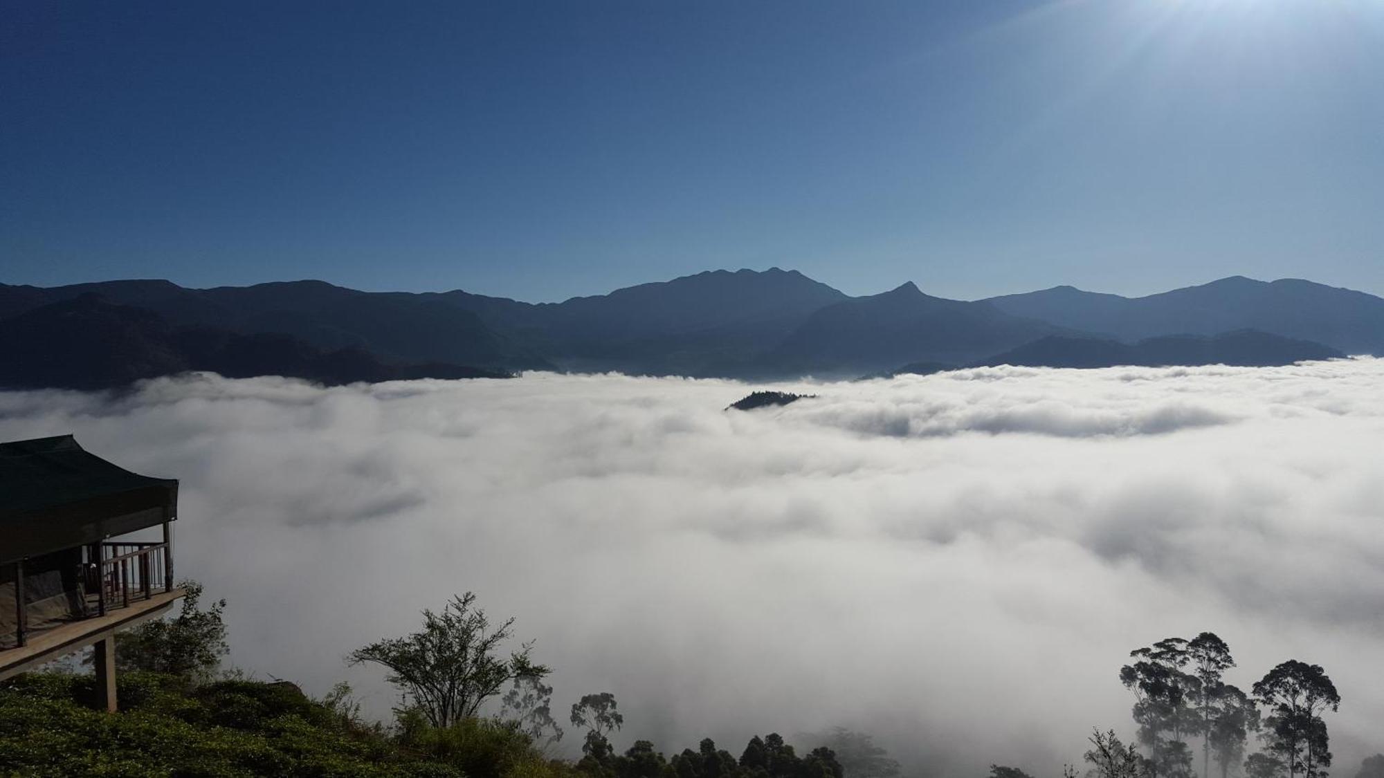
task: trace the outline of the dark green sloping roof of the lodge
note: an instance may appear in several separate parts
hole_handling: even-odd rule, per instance
[[[177,518],[177,480],[119,468],[71,435],[0,443],[0,563]]]

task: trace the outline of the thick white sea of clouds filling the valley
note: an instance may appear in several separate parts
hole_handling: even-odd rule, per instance
[[[177,568],[228,599],[230,662],[378,716],[394,694],[342,656],[471,590],[559,717],[614,692],[620,748],[840,724],[919,775],[1050,777],[1132,734],[1131,649],[1211,630],[1243,688],[1326,667],[1336,774],[1384,750],[1384,360],[774,388],[817,397],[185,377],[0,393],[0,439],[181,479]]]

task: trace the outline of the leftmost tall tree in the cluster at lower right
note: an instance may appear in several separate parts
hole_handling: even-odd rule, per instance
[[[1120,681],[1135,694],[1133,720],[1149,748],[1153,778],[1185,778],[1192,772],[1192,752],[1182,735],[1193,718],[1189,702],[1200,682],[1183,671],[1190,660],[1187,641],[1165,638],[1129,656],[1135,662],[1120,669]]]

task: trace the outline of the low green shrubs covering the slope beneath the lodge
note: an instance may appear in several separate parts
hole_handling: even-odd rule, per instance
[[[118,676],[122,712],[87,705],[91,676],[30,673],[0,684],[0,775],[185,778],[461,778],[286,682],[191,687]]]

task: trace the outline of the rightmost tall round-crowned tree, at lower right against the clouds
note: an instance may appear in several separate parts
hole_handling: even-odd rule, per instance
[[[1269,712],[1269,749],[1283,759],[1289,778],[1326,775],[1331,752],[1322,713],[1337,710],[1341,695],[1322,666],[1290,659],[1254,684],[1254,696]]]

